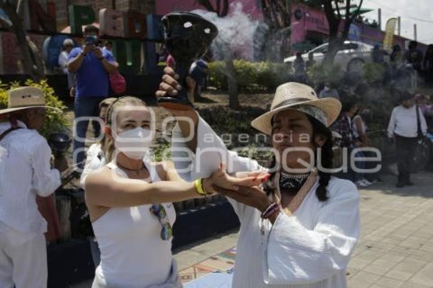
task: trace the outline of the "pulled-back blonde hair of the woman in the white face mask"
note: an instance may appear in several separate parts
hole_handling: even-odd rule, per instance
[[[107,109],[106,115],[105,115],[105,125],[112,128],[113,124],[112,121],[116,121],[117,119],[113,119],[113,111],[119,107],[123,107],[123,106],[146,106],[146,103],[137,98],[137,97],[132,97],[132,96],[125,96],[125,97],[120,97],[117,98],[116,100],[114,100],[110,106]],[[102,146],[101,146],[102,149]],[[104,141],[104,146],[103,146],[103,152],[105,154],[105,159],[106,162],[111,162],[112,158],[113,158],[113,152],[114,152],[114,141],[113,139],[110,139],[109,137],[106,137],[105,141]]]

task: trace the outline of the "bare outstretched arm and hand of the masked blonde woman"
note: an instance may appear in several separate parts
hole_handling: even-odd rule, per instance
[[[163,181],[147,183],[143,180],[120,177],[107,167],[90,174],[85,181],[86,201],[100,207],[132,207],[145,204],[183,201],[202,197],[195,182],[186,182],[176,175],[172,165],[156,164],[158,175]],[[239,186],[255,186],[258,177],[236,179],[220,168],[210,177],[203,179],[203,186],[221,186],[236,189]],[[207,190],[207,192],[210,192]]]

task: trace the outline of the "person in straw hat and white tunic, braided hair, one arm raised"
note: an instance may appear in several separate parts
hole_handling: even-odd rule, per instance
[[[171,68],[165,71],[156,94],[175,96],[176,76]],[[241,223],[233,287],[346,287],[345,270],[360,235],[359,194],[352,182],[323,169],[332,167],[328,127],[340,109],[339,100],[318,99],[307,85],[291,82],[278,87],[270,111],[252,122],[272,137],[276,156],[264,189],[217,189],[229,197]],[[265,169],[227,151],[196,111],[172,112],[178,118],[172,157],[184,179],[209,175],[221,161],[229,173]],[[178,139],[188,136],[186,143]],[[196,153],[193,163],[186,146]]]

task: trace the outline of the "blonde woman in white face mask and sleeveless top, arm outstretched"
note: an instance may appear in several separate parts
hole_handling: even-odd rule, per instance
[[[206,179],[183,181],[169,162],[145,159],[154,121],[143,101],[124,97],[107,110],[108,164],[85,180],[86,203],[101,250],[93,288],[181,287],[171,253],[176,213],[172,201],[203,197],[203,187],[258,185],[265,173],[243,179],[225,168]]]

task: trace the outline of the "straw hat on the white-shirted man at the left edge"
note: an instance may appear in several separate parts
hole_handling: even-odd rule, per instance
[[[45,105],[44,92],[36,87],[20,87],[8,91],[8,108],[1,109],[0,114],[6,114],[28,108],[57,108]]]

